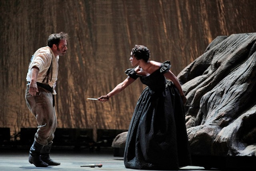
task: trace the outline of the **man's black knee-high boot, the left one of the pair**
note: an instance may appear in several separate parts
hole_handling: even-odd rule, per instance
[[[41,145],[34,141],[33,145],[29,151],[28,161],[30,164],[34,164],[36,167],[47,167],[49,166],[46,162],[44,162],[40,157],[40,152],[44,145]]]

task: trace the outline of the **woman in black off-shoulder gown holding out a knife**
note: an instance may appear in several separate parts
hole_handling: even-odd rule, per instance
[[[124,165],[126,168],[173,170],[190,165],[190,154],[183,103],[187,101],[181,85],[170,71],[169,61],[148,61],[146,46],[131,51],[128,77],[107,95],[106,102],[140,78],[147,87],[142,91],[127,134]],[[170,79],[170,80],[166,80]]]

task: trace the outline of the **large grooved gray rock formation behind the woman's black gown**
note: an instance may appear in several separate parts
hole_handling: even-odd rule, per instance
[[[178,75],[192,154],[256,156],[255,40],[217,37]]]

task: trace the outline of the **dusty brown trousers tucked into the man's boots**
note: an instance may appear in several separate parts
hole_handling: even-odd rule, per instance
[[[35,96],[30,95],[28,91],[29,84],[27,84],[25,98],[28,109],[36,117],[38,124],[35,141],[41,145],[47,145],[52,142],[57,127],[53,95],[51,92],[39,86],[39,92]]]

